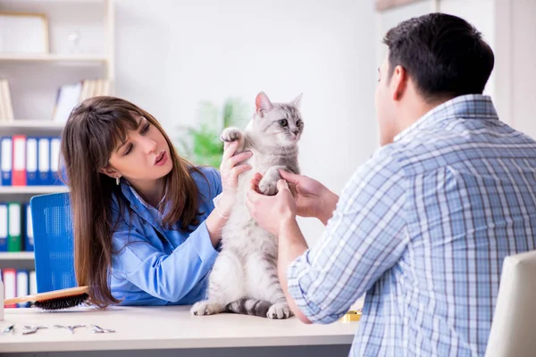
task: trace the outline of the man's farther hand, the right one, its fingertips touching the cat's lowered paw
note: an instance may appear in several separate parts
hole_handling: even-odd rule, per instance
[[[281,178],[290,184],[291,191],[296,193],[297,215],[314,217],[327,224],[330,220],[339,196],[332,193],[315,179],[304,175],[296,175],[280,170]]]

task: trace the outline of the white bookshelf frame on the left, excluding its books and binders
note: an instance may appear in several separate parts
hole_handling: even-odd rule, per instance
[[[63,85],[106,79],[113,95],[113,0],[0,0],[0,9],[44,14],[49,44],[44,54],[0,53],[0,79],[9,83],[14,117],[0,120],[0,137],[61,137],[64,122],[54,121],[53,113]],[[73,33],[79,38],[76,44],[70,39]],[[29,203],[32,196],[67,190],[0,183],[0,203]],[[21,222],[24,241],[25,219]],[[0,269],[7,268],[35,269],[34,253],[0,252]]]

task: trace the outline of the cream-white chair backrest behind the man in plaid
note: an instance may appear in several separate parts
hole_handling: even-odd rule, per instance
[[[536,355],[536,251],[507,256],[487,357]]]

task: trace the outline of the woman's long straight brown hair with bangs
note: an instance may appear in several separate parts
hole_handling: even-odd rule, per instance
[[[162,132],[173,162],[161,212],[168,228],[181,221],[181,229],[198,224],[198,189],[191,176],[197,168],[180,158],[170,138],[155,118],[135,104],[112,96],[89,98],[71,112],[62,134],[66,184],[70,188],[74,221],[74,269],[79,286],[89,286],[91,303],[105,307],[119,303],[108,285],[112,267],[112,197],[121,204],[121,187],[101,169],[108,166],[117,143],[129,129],[138,129],[133,113],[145,117]],[[170,204],[168,204],[170,203]],[[120,211],[124,209],[120,207]],[[121,214],[120,214],[121,216]]]

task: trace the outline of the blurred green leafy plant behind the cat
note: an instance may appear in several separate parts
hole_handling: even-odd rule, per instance
[[[219,168],[223,154],[220,134],[223,128],[241,128],[246,119],[246,109],[247,105],[239,98],[226,99],[222,112],[212,102],[201,102],[197,112],[197,129],[179,127],[181,135],[176,141],[179,154],[197,165]]]

